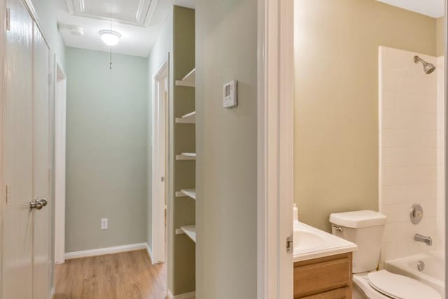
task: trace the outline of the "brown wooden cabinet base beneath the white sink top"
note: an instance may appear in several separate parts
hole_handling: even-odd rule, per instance
[[[294,263],[294,299],[351,299],[352,253]]]

